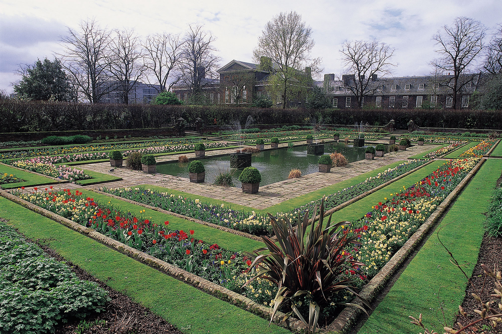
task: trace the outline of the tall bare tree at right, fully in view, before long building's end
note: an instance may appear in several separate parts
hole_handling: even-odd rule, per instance
[[[438,46],[436,52],[441,55],[432,65],[443,75],[453,73],[453,77],[447,79],[447,87],[451,88],[452,108],[456,109],[457,96],[474,79],[474,75],[466,78],[464,74],[474,68],[475,60],[481,55],[486,28],[479,21],[459,17],[452,26],[444,26],[443,30],[432,37]]]

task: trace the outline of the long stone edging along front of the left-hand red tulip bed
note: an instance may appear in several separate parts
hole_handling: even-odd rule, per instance
[[[249,312],[255,313],[261,317],[269,317],[271,316],[271,308],[260,305],[257,302],[241,295],[236,292],[233,292],[223,286],[220,286],[218,284],[215,284],[213,282],[210,282],[202,277],[199,277],[195,274],[192,274],[186,270],[183,270],[181,268],[178,268],[172,264],[169,264],[165,261],[162,261],[156,257],[153,257],[152,255],[146,254],[142,251],[139,251],[133,247],[130,247],[126,244],[122,244],[121,242],[114,240],[110,237],[107,237],[94,229],[82,226],[78,223],[75,223],[67,218],[61,217],[53,212],[50,212],[46,209],[43,209],[39,206],[36,206],[30,202],[27,202],[17,196],[14,196],[2,189],[0,189],[0,196],[5,197],[6,199],[15,202],[17,204],[22,205],[23,207],[30,209],[33,212],[36,212],[44,217],[47,217],[49,219],[52,219],[62,225],[65,225],[69,227],[70,229],[79,232],[85,236],[88,236],[124,255],[127,255],[137,261],[140,261],[150,267],[153,267],[155,269],[164,271],[168,275],[179,279],[180,281],[186,282],[196,288],[201,289],[202,291],[214,295],[215,297],[227,301],[229,303],[232,303],[242,309],[245,309]],[[273,322],[274,323],[280,323],[285,314],[282,312],[277,312],[274,316]],[[288,320],[284,322],[287,328],[291,330],[304,330],[306,329],[305,324],[293,317],[290,317]]]

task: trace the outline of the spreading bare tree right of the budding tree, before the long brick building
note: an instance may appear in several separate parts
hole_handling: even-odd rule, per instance
[[[397,66],[392,62],[395,51],[378,40],[343,43],[340,53],[345,74],[338,79],[355,95],[357,108],[361,107],[364,96],[373,95],[385,77],[392,74],[392,68]]]

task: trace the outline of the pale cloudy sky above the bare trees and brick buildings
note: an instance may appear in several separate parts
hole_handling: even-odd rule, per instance
[[[342,72],[339,49],[346,40],[379,39],[396,48],[394,76],[427,75],[437,55],[432,36],[455,17],[465,16],[492,28],[502,23],[501,0],[373,1],[130,1],[1,0],[0,89],[12,92],[19,64],[54,59],[61,36],[94,18],[109,29],[134,28],[141,36],[183,34],[202,23],[216,41],[221,66],[231,60],[252,62],[266,23],[281,12],[296,11],[312,28],[313,57],[323,73]]]

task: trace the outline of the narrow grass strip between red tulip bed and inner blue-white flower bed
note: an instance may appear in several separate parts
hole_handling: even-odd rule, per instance
[[[204,240],[209,244],[218,244],[219,246],[228,250],[237,252],[252,252],[258,248],[264,247],[262,242],[241,237],[233,233],[221,231],[209,226],[191,222],[186,219],[178,218],[172,215],[164,214],[152,209],[145,209],[144,207],[136,204],[131,204],[126,201],[116,200],[106,195],[98,194],[90,190],[82,190],[85,197],[94,198],[98,203],[110,202],[120,211],[127,212],[128,210],[134,213],[139,213],[140,210],[145,210],[143,216],[150,218],[153,222],[164,223],[169,221],[169,228],[172,230],[195,231],[195,238]]]

